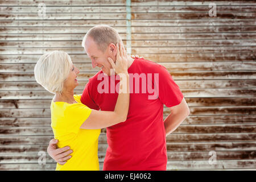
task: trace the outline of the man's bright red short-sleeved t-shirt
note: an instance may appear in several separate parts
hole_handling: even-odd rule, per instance
[[[106,129],[108,148],[103,169],[166,170],[163,105],[179,105],[183,94],[167,69],[152,61],[135,59],[128,73],[129,113],[125,122]],[[114,111],[119,92],[119,76],[102,75],[104,74],[100,71],[89,79],[82,93],[81,102],[91,109]],[[141,78],[137,79],[138,76]],[[118,91],[113,89],[116,85]],[[105,92],[102,93],[104,89]]]

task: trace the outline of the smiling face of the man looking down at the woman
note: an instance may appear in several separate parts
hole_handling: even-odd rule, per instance
[[[113,44],[114,45],[114,44]],[[108,57],[111,57],[115,61],[115,55],[114,53],[116,51],[114,47],[113,51],[113,45],[108,46],[105,52],[102,52],[100,49],[98,49],[97,44],[94,42],[94,40],[88,36],[85,40],[85,52],[92,60],[92,67],[96,68],[99,67],[101,70],[108,76],[110,76],[110,69],[112,69],[112,65],[108,61]]]

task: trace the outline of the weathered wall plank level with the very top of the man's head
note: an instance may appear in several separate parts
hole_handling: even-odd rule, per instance
[[[1,8],[1,7],[0,7]],[[54,20],[37,19],[37,20],[1,20],[2,26],[10,27],[34,27],[34,26],[96,26],[97,24],[108,24],[109,26],[126,26],[126,20],[90,20],[90,19],[76,19],[69,20],[63,19],[58,21],[57,24]],[[255,26],[254,19],[147,19],[131,21],[131,26]]]

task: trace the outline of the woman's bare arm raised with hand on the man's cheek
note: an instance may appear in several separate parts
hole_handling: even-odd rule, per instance
[[[120,43],[120,46],[117,44],[117,60],[115,64],[111,58],[109,62],[120,76],[119,94],[115,109],[114,111],[92,110],[92,113],[82,123],[80,129],[102,129],[126,121],[130,102],[129,74],[127,72],[127,54],[122,43]]]

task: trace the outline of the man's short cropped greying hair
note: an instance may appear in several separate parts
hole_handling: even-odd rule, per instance
[[[114,28],[105,24],[100,24],[90,28],[90,30],[85,34],[84,39],[82,39],[82,47],[85,47],[85,40],[88,36],[94,40],[98,49],[102,52],[106,51],[106,48],[110,43],[117,44],[122,40]]]

